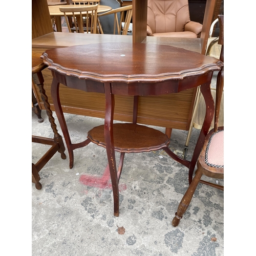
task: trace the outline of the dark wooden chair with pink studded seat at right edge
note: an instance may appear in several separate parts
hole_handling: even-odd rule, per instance
[[[219,15],[218,18],[220,23],[220,37],[218,44],[222,46],[220,60],[224,61],[224,16]],[[224,186],[201,180],[202,175],[216,179],[224,178],[224,126],[219,127],[218,125],[221,96],[224,86],[223,80],[224,68],[219,71],[217,77],[214,129],[212,129],[205,138],[203,149],[197,162],[196,175],[179,204],[172,222],[173,226],[179,225],[199,182],[224,190]]]

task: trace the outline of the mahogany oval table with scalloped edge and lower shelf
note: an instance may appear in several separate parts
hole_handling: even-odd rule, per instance
[[[73,150],[93,142],[106,148],[110,167],[114,215],[119,215],[118,183],[125,153],[164,150],[174,160],[189,168],[189,183],[214,115],[210,93],[212,73],[223,62],[200,53],[164,45],[139,43],[104,43],[47,50],[41,56],[53,75],[51,95],[57,118],[65,137],[73,167]],[[87,139],[73,144],[59,100],[59,83],[86,92],[105,94],[104,125],[94,127]],[[167,135],[137,124],[137,97],[178,93],[201,86],[206,114],[191,161],[170,151]],[[134,97],[133,123],[113,124],[114,95]],[[164,110],[163,110],[164,111]],[[117,168],[115,151],[121,152]]]

